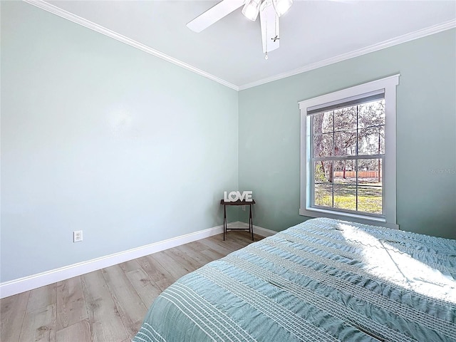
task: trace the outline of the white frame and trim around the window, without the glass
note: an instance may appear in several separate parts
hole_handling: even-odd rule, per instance
[[[308,217],[331,217],[364,224],[375,224],[398,229],[396,223],[396,86],[399,76],[394,75],[359,86],[338,90],[299,102],[301,110],[301,204],[299,214]],[[383,161],[383,214],[381,217],[363,213],[338,212],[311,207],[311,115],[308,109],[324,108],[331,103],[341,103],[366,93],[385,92],[385,158]]]

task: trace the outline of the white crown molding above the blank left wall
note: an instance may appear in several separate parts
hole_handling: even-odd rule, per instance
[[[43,0],[23,0],[24,2],[31,4],[33,6],[36,6],[40,9],[43,9],[45,11],[48,11],[52,14],[56,14],[57,16],[61,16],[63,19],[68,19],[69,21],[73,21],[73,23],[79,24],[81,26],[84,26],[86,28],[90,28],[93,31],[97,31],[98,33],[102,33],[105,36],[108,36],[110,38],[114,38],[117,41],[120,41],[122,43],[128,44],[130,46],[133,46],[133,48],[138,48],[141,51],[144,51],[145,53],[149,53],[152,56],[162,58],[165,61],[168,61],[170,63],[175,64],[176,66],[180,66],[182,68],[185,68],[187,70],[190,70],[194,73],[197,73],[200,76],[204,76],[205,78],[209,78],[209,80],[215,81],[217,83],[222,84],[223,86],[227,86],[228,88],[232,88],[234,90],[239,90],[239,87],[229,83],[227,81],[222,80],[222,78],[218,78],[217,76],[214,76],[210,73],[207,73],[205,71],[202,71],[199,68],[195,68],[195,66],[191,66],[190,64],[187,64],[185,62],[182,62],[176,58],[173,58],[171,56],[168,56],[165,53],[162,53],[160,51],[155,50],[154,48],[150,48],[149,46],[145,46],[142,43],[139,43],[138,41],[135,41],[133,39],[130,39],[128,37],[125,37],[119,33],[116,33],[114,31],[111,31],[109,28],[105,28],[104,26],[100,26],[98,24],[93,23],[92,21],[88,21],[87,19],[81,18],[81,16],[76,16],[76,14],[72,14],[68,11],[65,11],[64,9],[61,9],[57,6],[54,6],[53,4],[49,4],[46,1]]]

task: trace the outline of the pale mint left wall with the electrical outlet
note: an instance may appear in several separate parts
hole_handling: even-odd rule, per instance
[[[2,1],[1,281],[222,224],[238,146],[220,133],[238,135],[237,96]]]

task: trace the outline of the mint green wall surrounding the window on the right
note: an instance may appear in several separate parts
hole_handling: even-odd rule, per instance
[[[239,187],[254,191],[254,224],[280,231],[307,219],[298,102],[400,73],[398,224],[456,239],[455,61],[452,29],[239,92]]]

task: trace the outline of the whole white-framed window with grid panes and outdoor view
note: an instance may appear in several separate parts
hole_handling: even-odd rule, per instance
[[[395,89],[399,76],[299,103],[301,207],[397,228]]]

